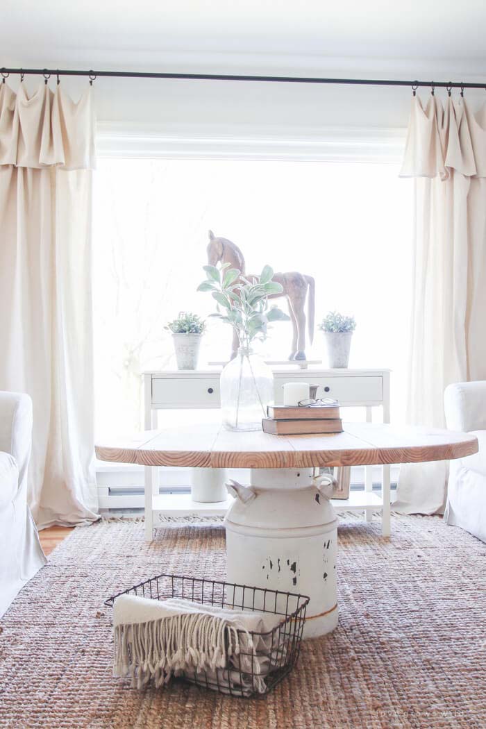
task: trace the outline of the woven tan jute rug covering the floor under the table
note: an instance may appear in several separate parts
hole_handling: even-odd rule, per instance
[[[221,526],[76,529],[1,623],[0,726],[361,729],[486,727],[486,545],[440,518],[340,523],[340,625],[307,641],[267,698],[111,676],[103,599],[160,572],[224,577]]]

